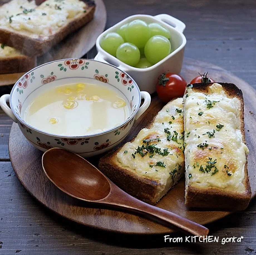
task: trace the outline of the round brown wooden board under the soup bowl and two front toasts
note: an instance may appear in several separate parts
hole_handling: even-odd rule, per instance
[[[245,102],[245,136],[250,150],[248,155],[248,172],[252,186],[253,197],[256,194],[255,154],[256,154],[256,92],[245,81],[233,76],[227,71],[211,64],[184,59],[181,76],[191,81],[199,73],[209,72],[209,75],[218,82],[232,82],[243,91]],[[163,107],[156,95],[152,95],[152,102],[147,111],[134,123],[124,142],[129,141],[144,126],[151,121]],[[254,135],[250,135],[254,134]],[[161,226],[150,220],[124,211],[115,211],[110,208],[99,208],[92,204],[78,201],[56,188],[45,176],[42,166],[42,152],[33,147],[22,135],[17,124],[13,124],[9,138],[9,154],[17,177],[28,190],[46,207],[72,221],[108,231],[130,234],[163,234],[173,232],[173,229]],[[99,157],[91,158],[93,164]],[[175,212],[183,217],[200,224],[207,224],[220,219],[230,212],[224,211],[189,211],[184,205],[184,179],[168,192],[157,204],[158,207]]]

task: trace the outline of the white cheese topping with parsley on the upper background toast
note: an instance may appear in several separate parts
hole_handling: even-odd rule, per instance
[[[0,27],[43,39],[82,14],[86,7],[80,0],[46,0],[39,6],[35,1],[12,0],[1,6]]]

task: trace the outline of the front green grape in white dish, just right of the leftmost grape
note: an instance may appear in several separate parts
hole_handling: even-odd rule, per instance
[[[129,66],[136,66],[141,55],[136,45],[123,43],[117,48],[116,57]]]

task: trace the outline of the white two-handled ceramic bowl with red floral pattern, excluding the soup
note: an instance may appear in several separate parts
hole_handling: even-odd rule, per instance
[[[77,82],[104,85],[109,89],[118,90],[130,109],[127,119],[106,131],[83,136],[51,134],[24,121],[23,105],[26,106],[26,100],[35,98],[47,89]],[[144,103],[140,106],[141,98]],[[39,150],[60,147],[83,157],[90,157],[118,145],[128,134],[134,121],[146,111],[150,101],[149,93],[140,91],[131,76],[115,66],[88,59],[62,59],[43,64],[24,74],[13,86],[11,94],[0,98],[0,105],[4,112],[18,123],[26,139]],[[11,108],[6,102],[9,102]]]

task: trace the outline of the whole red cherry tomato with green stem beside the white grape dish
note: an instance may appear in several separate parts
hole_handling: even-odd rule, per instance
[[[158,77],[156,92],[158,97],[165,103],[174,97],[182,97],[187,82],[178,74],[163,73]]]

